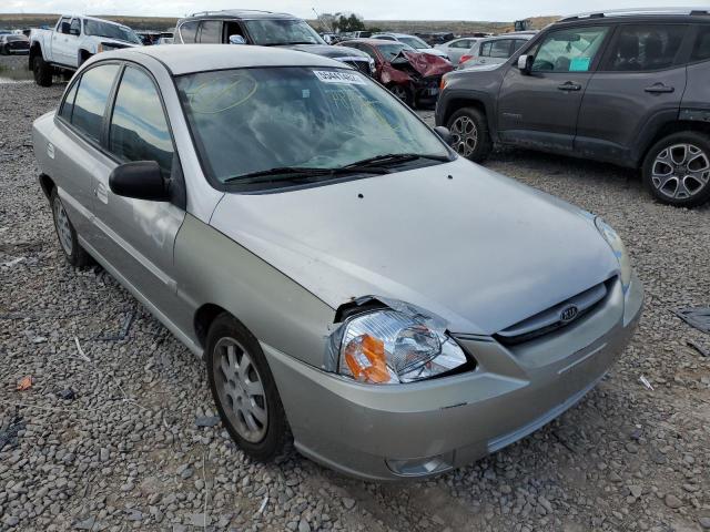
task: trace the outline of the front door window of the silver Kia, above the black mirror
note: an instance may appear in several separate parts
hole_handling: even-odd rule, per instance
[[[132,66],[125,69],[115,96],[109,150],[122,162],[155,161],[170,176],[173,143],[158,89]]]

